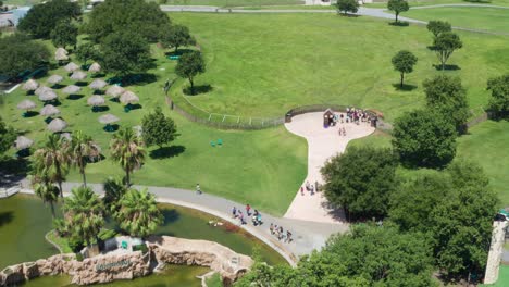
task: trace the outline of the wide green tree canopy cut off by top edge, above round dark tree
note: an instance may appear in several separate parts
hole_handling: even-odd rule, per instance
[[[108,35],[129,30],[148,41],[156,41],[161,27],[167,27],[170,18],[156,2],[144,0],[107,0],[94,8],[85,30],[100,42]]]

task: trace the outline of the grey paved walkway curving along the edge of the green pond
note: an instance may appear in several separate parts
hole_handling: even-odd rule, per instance
[[[28,183],[23,180],[21,185],[27,187]],[[80,183],[64,183],[63,189],[69,191],[76,186],[80,186]],[[102,185],[100,184],[88,184],[87,186],[91,187],[94,191],[99,195],[104,194]],[[204,190],[204,194],[197,195],[196,191],[171,187],[134,186],[134,188],[148,188],[150,192],[157,196],[158,201],[160,202],[173,203],[201,210],[236,224],[238,224],[238,221],[232,219],[231,216],[232,208],[236,207],[237,209],[241,209],[245,213],[244,203],[238,203],[221,197],[208,195],[207,190]],[[33,190],[24,188],[22,192],[33,194]],[[66,192],[66,195],[69,195],[69,192]],[[256,209],[257,207],[252,208]],[[253,226],[249,222],[241,227],[277,250],[286,258],[288,262],[291,263],[295,263],[298,257],[309,254],[312,250],[322,248],[325,245],[326,239],[332,234],[345,233],[348,229],[348,225],[282,219],[263,212],[262,221],[262,226]],[[290,230],[293,233],[294,241],[290,244],[278,241],[277,238],[270,234],[269,226],[271,223],[283,226],[285,233],[286,229]]]

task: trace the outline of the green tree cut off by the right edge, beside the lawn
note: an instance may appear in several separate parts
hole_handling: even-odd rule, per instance
[[[487,89],[492,91],[488,109],[496,117],[509,115],[509,74],[491,78]]]

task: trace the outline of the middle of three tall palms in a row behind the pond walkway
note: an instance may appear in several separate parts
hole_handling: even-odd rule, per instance
[[[90,157],[98,157],[100,154],[99,147],[92,141],[88,135],[77,130],[73,133],[71,138],[71,158],[73,165],[79,170],[83,177],[83,185],[87,187],[87,177],[85,175],[85,167],[87,167],[88,159]]]

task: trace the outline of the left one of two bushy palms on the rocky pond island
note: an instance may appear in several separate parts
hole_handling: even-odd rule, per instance
[[[101,200],[89,187],[73,188],[71,192],[63,205],[69,233],[89,246],[104,225]]]

